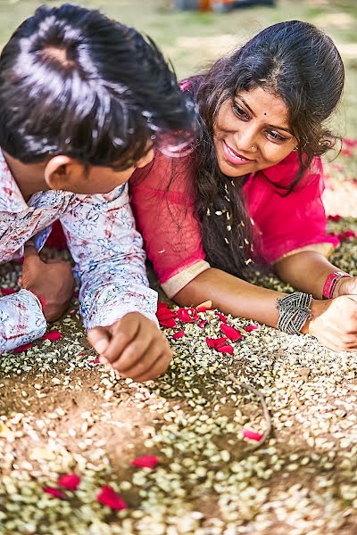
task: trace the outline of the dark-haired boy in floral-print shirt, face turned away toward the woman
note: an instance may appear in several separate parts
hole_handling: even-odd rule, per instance
[[[69,265],[37,256],[60,219],[102,361],[137,381],[166,370],[127,181],[194,115],[154,43],[100,12],[40,7],[15,31],[0,56],[0,261],[26,251],[21,291],[0,299],[1,351],[43,335],[71,298]]]

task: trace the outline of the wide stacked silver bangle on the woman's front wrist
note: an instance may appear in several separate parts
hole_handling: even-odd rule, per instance
[[[300,334],[306,321],[312,317],[311,293],[294,292],[277,301],[278,329],[286,334]]]

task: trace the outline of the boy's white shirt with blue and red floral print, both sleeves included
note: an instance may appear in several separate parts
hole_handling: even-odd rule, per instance
[[[128,185],[96,195],[50,190],[25,202],[0,151],[0,261],[21,257],[29,239],[40,251],[56,219],[61,220],[76,264],[84,325],[111,325],[133,311],[155,321],[157,294],[148,287]],[[21,290],[0,298],[0,351],[45,332],[41,303],[32,292]]]

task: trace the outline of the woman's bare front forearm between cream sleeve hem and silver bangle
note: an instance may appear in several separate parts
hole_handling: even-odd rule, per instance
[[[196,306],[212,300],[212,306],[225,314],[246,317],[277,327],[277,300],[286,294],[246,283],[215,268],[206,269],[173,298],[181,306]]]

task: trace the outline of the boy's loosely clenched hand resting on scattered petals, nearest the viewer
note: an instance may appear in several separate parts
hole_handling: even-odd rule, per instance
[[[163,374],[172,352],[165,336],[154,321],[130,312],[107,327],[88,331],[88,341],[122,377],[143,382]]]

